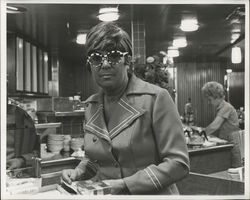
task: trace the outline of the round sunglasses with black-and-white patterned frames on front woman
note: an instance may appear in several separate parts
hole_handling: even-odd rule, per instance
[[[93,52],[88,56],[87,62],[92,67],[100,67],[103,64],[104,60],[106,59],[109,64],[115,65],[121,62],[121,58],[127,54],[128,52],[121,52],[118,50],[112,50],[107,52],[106,54]]]

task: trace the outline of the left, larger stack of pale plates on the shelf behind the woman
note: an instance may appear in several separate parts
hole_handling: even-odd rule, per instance
[[[59,153],[63,148],[64,135],[50,134],[48,135],[47,147],[52,153]]]

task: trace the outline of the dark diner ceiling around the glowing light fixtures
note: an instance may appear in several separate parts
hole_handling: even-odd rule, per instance
[[[22,14],[7,14],[7,30],[16,32],[44,48],[58,50],[72,61],[85,56],[84,46],[75,43],[76,34],[99,22],[98,4],[8,4],[26,9]],[[145,22],[146,55],[166,51],[179,28],[183,12],[197,14],[199,29],[186,32],[188,45],[180,49],[181,58],[230,57],[232,32],[238,29],[235,42],[243,48],[245,38],[244,4],[121,4],[118,23],[131,32],[131,20]],[[234,43],[234,44],[235,44]]]

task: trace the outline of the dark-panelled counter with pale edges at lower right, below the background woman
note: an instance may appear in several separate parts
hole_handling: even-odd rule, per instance
[[[177,183],[182,195],[243,195],[244,170],[229,173],[233,144],[189,148],[190,174]],[[240,170],[239,170],[240,171]]]

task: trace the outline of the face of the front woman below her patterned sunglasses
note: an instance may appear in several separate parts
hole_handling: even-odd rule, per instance
[[[98,53],[106,54],[106,52],[101,51],[98,51]],[[124,56],[121,56],[116,64],[111,64],[104,58],[100,66],[90,66],[94,80],[106,91],[118,89],[128,78],[127,70],[129,66],[125,65]]]

